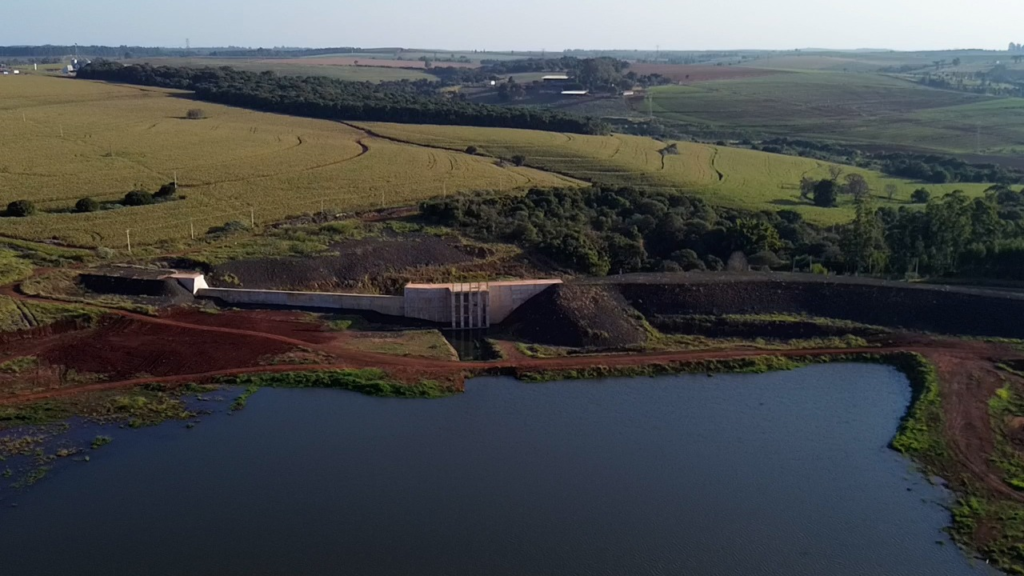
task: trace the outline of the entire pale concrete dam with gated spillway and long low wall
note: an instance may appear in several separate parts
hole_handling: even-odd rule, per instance
[[[513,280],[452,284],[409,284],[401,296],[337,292],[294,292],[211,288],[199,273],[169,278],[199,298],[229,304],[375,312],[442,324],[454,330],[487,328],[500,324],[516,308],[561,280]]]

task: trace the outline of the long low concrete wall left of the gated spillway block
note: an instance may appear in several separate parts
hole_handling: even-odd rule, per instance
[[[329,292],[284,292],[280,290],[245,290],[240,288],[202,288],[196,295],[203,298],[218,298],[230,304],[368,311],[388,316],[406,316],[406,299],[401,296],[334,294]]]

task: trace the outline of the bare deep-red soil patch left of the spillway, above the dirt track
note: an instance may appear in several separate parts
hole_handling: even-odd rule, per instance
[[[79,373],[125,379],[140,374],[172,376],[258,366],[261,359],[285,354],[293,347],[258,336],[225,336],[114,318],[81,337],[56,341],[39,357]]]

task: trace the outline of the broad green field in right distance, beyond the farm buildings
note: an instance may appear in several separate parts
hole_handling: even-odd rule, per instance
[[[795,72],[652,90],[656,116],[739,134],[1015,154],[1024,98],[939,90],[874,74]]]

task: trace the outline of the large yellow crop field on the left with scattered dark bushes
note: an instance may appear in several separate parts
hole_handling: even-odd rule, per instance
[[[170,90],[41,76],[0,79],[0,235],[121,247],[183,240],[226,221],[267,223],[321,209],[408,205],[473,190],[573,183],[494,159],[371,136],[323,120],[196,102]],[[189,109],[203,120],[186,120]],[[115,201],[177,178],[175,200],[78,214],[78,199]]]

